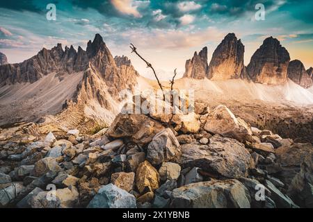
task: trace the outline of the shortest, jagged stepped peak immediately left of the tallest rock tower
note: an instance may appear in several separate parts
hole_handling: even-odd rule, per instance
[[[191,60],[186,61],[184,77],[202,79],[207,77],[207,47],[199,54],[195,52]]]

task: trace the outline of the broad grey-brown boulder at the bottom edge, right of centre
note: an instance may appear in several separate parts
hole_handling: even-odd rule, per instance
[[[250,208],[250,194],[238,180],[197,182],[174,189],[170,207]]]

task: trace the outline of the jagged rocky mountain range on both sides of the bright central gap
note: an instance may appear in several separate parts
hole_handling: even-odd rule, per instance
[[[301,87],[312,87],[312,67],[306,71],[299,60],[290,61],[287,49],[277,39],[264,40],[247,67],[244,51],[241,40],[230,33],[214,51],[211,62],[207,47],[195,52],[186,61],[182,81],[239,79],[285,85],[289,78]],[[8,64],[1,53],[0,62],[0,126],[19,121],[62,123],[64,128],[95,121],[110,123],[123,105],[119,95],[123,89],[134,92],[154,84],[140,76],[126,56],[114,58],[99,34],[88,42],[86,51],[80,46],[77,51],[73,46],[63,50],[57,44],[17,64]]]

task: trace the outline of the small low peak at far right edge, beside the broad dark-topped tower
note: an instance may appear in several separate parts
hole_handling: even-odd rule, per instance
[[[313,80],[310,77],[310,74],[305,71],[303,63],[299,60],[292,60],[289,63],[288,78],[305,89],[310,88],[313,85]]]

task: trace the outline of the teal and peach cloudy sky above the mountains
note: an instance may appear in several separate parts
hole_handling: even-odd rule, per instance
[[[47,19],[47,5],[56,6],[56,20]],[[264,20],[258,3],[264,5]],[[43,47],[57,43],[86,48],[96,33],[113,56],[125,55],[139,73],[153,77],[150,69],[131,53],[133,43],[162,79],[195,51],[208,47],[208,58],[227,33],[245,45],[245,64],[266,37],[280,40],[291,60],[313,67],[312,0],[0,0],[0,51],[8,62],[22,62]]]

